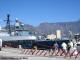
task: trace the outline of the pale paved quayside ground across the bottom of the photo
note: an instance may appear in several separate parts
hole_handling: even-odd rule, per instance
[[[22,54],[20,49],[2,48],[2,51],[0,51],[0,60],[80,60],[80,57],[75,59],[74,57],[64,58],[64,56],[32,56]]]

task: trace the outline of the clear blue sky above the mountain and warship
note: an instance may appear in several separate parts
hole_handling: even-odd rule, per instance
[[[0,20],[6,20],[8,13],[10,20],[18,18],[33,26],[44,22],[77,21],[80,19],[80,0],[0,0]]]

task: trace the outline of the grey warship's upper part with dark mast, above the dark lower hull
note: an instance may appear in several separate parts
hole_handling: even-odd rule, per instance
[[[30,29],[24,28],[24,23],[19,22],[18,18],[15,19],[14,25],[10,23],[10,14],[7,15],[6,27],[0,27],[0,38],[2,40],[36,40],[35,32]]]

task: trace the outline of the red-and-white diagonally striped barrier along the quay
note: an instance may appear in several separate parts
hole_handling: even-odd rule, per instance
[[[34,49],[23,49],[22,53],[27,54],[27,55],[34,55],[34,56],[63,56],[64,58],[66,57],[72,57],[74,56],[74,58],[78,58],[78,56],[80,55],[80,51],[74,55],[74,53],[76,52],[76,50],[69,52],[67,51],[65,53],[65,51],[61,48],[59,48],[58,50],[34,50]]]

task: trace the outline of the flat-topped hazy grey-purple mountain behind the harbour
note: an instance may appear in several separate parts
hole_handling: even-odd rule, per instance
[[[62,35],[68,35],[69,30],[73,33],[80,33],[80,20],[75,22],[41,23],[37,27],[25,25],[25,28],[31,28],[40,35],[56,34],[56,30],[61,30]]]

